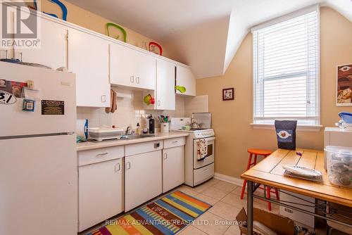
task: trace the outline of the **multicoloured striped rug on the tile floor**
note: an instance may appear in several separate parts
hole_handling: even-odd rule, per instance
[[[87,235],[177,234],[209,208],[208,203],[175,191]]]

